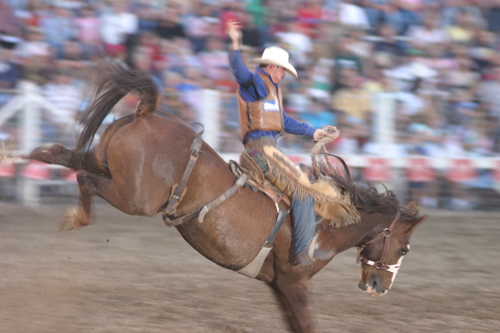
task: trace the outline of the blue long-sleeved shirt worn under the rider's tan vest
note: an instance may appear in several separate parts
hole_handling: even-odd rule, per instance
[[[233,51],[231,53],[230,63],[231,63],[231,71],[234,77],[236,78],[236,82],[238,82],[238,84],[240,85],[239,89],[241,98],[243,98],[247,102],[256,102],[267,96],[267,89],[264,84],[264,81],[262,81],[262,78],[258,75],[258,73],[264,73],[268,75],[266,72],[264,72],[259,67],[257,67],[255,73],[250,72],[243,63],[243,60],[241,59],[241,53],[239,50]],[[252,76],[254,80],[254,85],[251,85],[247,88],[242,87],[242,84],[250,82]],[[271,80],[271,82],[273,82],[270,76],[269,79]],[[278,89],[278,85],[274,82],[273,84],[276,87],[276,89]],[[311,127],[306,123],[302,123],[288,116],[285,113],[284,109],[283,109],[283,120],[284,120],[283,123],[284,130],[287,133],[296,135],[307,135],[312,138],[314,132],[316,132],[316,129],[314,127]],[[246,137],[243,140],[243,143],[245,143],[249,139],[255,139],[260,136],[273,136],[275,138],[278,138],[278,135],[279,133],[275,131],[252,131],[246,135]]]

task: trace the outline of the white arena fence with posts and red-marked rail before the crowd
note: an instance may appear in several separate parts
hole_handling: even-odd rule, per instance
[[[18,115],[18,131],[20,132],[18,149],[14,155],[28,154],[42,142],[41,115],[48,112],[52,117],[64,119],[67,112],[58,109],[55,105],[43,98],[39,87],[30,82],[22,82],[16,90],[0,91],[12,93],[15,96],[0,108],[0,131],[9,119]],[[222,95],[218,91],[205,90],[200,94],[203,98],[203,112],[200,122],[205,125],[204,139],[218,151],[220,132],[223,130],[220,119]],[[486,171],[488,178],[487,187],[493,191],[500,188],[500,158],[428,158],[422,156],[391,157],[390,147],[394,143],[394,100],[390,94],[380,94],[374,98],[375,118],[374,128],[379,129],[373,133],[373,142],[377,145],[376,156],[349,155],[342,156],[350,168],[358,174],[359,179],[380,181],[388,188],[406,195],[412,183],[423,183],[424,186],[444,186],[446,182],[451,187],[473,187],[477,182],[480,171]],[[74,119],[64,119],[67,123],[74,124],[75,131],[81,129]],[[98,139],[98,138],[97,138]],[[97,140],[96,140],[97,141]],[[221,154],[225,160],[238,160],[239,152]],[[310,164],[308,154],[290,156],[295,162]],[[0,161],[1,162],[1,161]],[[77,190],[74,177],[67,178],[68,171],[58,166],[43,166],[51,170],[49,176],[33,176],[25,172],[28,161],[18,159],[14,167],[3,161],[0,163],[0,200],[13,198],[25,205],[37,205],[41,201],[42,188],[45,186],[64,189],[76,197]],[[10,170],[10,171],[9,171]],[[14,171],[12,171],[14,170]],[[61,175],[61,171],[63,175]],[[45,171],[47,174],[47,172]],[[484,183],[484,182],[483,182]],[[448,184],[448,185],[449,185]],[[464,185],[465,184],[465,185]],[[469,185],[467,185],[469,184]],[[484,184],[483,184],[484,185]],[[69,189],[69,190],[68,190]],[[464,190],[460,191],[463,196]],[[455,196],[449,194],[450,198]],[[442,199],[442,198],[437,198]],[[500,202],[499,202],[500,206]]]

